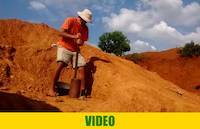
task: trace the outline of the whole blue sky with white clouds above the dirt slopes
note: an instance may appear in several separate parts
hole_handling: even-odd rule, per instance
[[[200,0],[0,0],[0,18],[46,23],[59,29],[64,19],[89,8],[90,43],[104,32],[123,31],[132,52],[164,50],[200,42]]]

